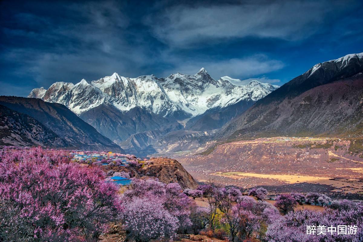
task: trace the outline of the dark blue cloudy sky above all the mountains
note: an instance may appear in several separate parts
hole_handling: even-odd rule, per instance
[[[0,1],[0,95],[56,81],[228,75],[282,85],[363,52],[357,1]]]

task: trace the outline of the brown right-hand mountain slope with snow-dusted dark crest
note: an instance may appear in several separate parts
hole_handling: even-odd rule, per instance
[[[221,139],[276,135],[361,136],[363,53],[319,63],[226,124]]]

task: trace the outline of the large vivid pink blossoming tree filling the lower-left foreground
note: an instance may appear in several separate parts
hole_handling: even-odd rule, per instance
[[[21,241],[89,241],[120,209],[117,190],[97,168],[66,152],[41,148],[0,152],[0,234]],[[19,227],[22,228],[19,230]]]

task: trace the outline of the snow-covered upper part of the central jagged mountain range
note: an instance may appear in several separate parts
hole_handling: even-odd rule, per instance
[[[164,117],[185,119],[241,100],[257,101],[277,87],[258,81],[236,86],[224,78],[213,79],[202,68],[195,75],[176,73],[160,79],[154,75],[126,78],[114,73],[91,82],[82,79],[76,85],[56,82],[48,90],[33,89],[28,97],[62,103],[77,115],[108,104],[121,112],[140,107]]]

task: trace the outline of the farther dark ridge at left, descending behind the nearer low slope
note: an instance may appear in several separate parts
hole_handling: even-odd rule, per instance
[[[122,151],[117,144],[99,134],[62,104],[47,103],[35,98],[5,96],[0,97],[0,104],[36,119],[73,147]]]

